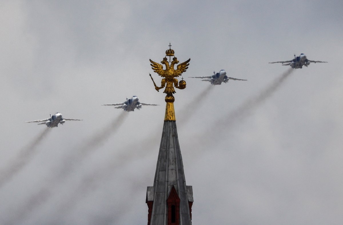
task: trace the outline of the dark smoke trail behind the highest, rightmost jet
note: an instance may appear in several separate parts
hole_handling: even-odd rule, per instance
[[[243,119],[251,113],[251,111],[257,108],[261,103],[263,103],[268,97],[280,88],[281,84],[285,81],[289,75],[294,71],[293,68],[286,70],[279,78],[275,79],[271,84],[269,84],[265,89],[263,89],[258,95],[250,97],[243,104],[238,106],[238,108],[230,111],[225,119],[220,119],[214,124],[214,129],[227,128],[228,125],[236,122],[239,119]]]

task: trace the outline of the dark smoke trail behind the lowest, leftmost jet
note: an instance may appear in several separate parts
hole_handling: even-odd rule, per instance
[[[40,133],[32,143],[25,146],[19,153],[19,156],[6,168],[4,171],[0,172],[0,187],[11,180],[11,178],[19,172],[36,154],[36,147],[43,140],[43,138],[48,134],[51,128],[46,128]]]

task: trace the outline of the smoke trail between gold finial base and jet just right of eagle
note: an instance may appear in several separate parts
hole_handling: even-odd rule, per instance
[[[177,123],[184,124],[193,114],[202,106],[202,102],[207,95],[213,90],[213,85],[209,85],[205,90],[200,92],[196,97],[192,98],[192,101],[189,104],[186,104],[186,107],[176,114]],[[179,116],[178,116],[179,115]]]

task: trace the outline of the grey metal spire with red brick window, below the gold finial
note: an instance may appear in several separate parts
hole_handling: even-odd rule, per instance
[[[154,186],[147,187],[148,225],[191,225],[192,186],[186,186],[176,121],[164,121]]]

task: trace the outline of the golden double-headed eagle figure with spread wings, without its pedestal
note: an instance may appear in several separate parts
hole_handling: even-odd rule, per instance
[[[163,65],[156,63],[150,59],[150,65],[152,66],[154,72],[156,72],[159,76],[164,77],[161,81],[161,87],[155,86],[155,89],[158,91],[159,89],[162,89],[166,86],[166,89],[163,93],[166,93],[167,96],[172,96],[175,93],[174,86],[178,89],[184,89],[186,87],[186,83],[180,82],[179,85],[178,80],[175,79],[175,77],[180,76],[188,69],[190,60],[191,59],[188,59],[187,61],[180,63],[179,65],[177,65],[177,69],[175,70],[174,65],[179,63],[176,57],[173,58],[173,61],[171,61],[170,65],[167,61],[167,58],[163,58],[161,63],[165,65],[166,69],[163,69]]]

